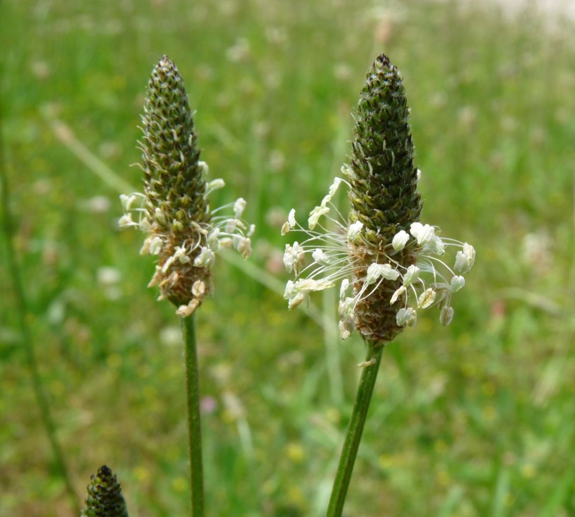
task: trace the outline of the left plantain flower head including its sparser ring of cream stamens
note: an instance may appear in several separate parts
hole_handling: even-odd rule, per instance
[[[209,194],[224,181],[210,181],[208,165],[200,161],[183,79],[167,56],[152,70],[141,120],[144,193],[120,196],[125,213],[118,224],[147,233],[140,254],[158,256],[149,286],[158,285],[159,299],[173,302],[185,317],[212,293],[218,251],[233,247],[250,256],[254,225],[241,219],[243,198],[210,209]]]

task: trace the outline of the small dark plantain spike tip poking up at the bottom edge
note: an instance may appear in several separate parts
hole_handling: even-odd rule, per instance
[[[86,506],[80,517],[128,517],[120,483],[106,465],[92,474]]]

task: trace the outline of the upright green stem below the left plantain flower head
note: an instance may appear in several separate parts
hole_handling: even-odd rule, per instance
[[[204,516],[204,474],[202,472],[202,429],[195,316],[182,318],[186,357],[187,428],[190,440],[191,515]]]

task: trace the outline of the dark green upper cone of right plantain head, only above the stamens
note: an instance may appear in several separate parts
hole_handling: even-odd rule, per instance
[[[359,98],[351,156],[351,222],[361,221],[366,237],[386,242],[419,221],[415,148],[400,72],[381,54]],[[374,240],[374,244],[375,244]]]

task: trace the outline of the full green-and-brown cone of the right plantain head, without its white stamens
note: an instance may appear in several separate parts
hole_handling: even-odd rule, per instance
[[[368,267],[389,262],[388,244],[400,230],[409,232],[419,221],[421,198],[417,193],[415,148],[409,127],[409,108],[401,75],[381,54],[367,73],[359,98],[350,159],[350,222],[361,221],[361,238],[350,243],[354,267],[354,291],[361,292]],[[393,255],[407,268],[415,263],[413,247]],[[355,325],[363,338],[374,344],[392,340],[402,327],[396,322],[397,308],[390,298],[402,285],[384,280],[355,306]]]

